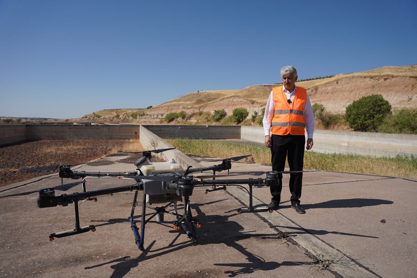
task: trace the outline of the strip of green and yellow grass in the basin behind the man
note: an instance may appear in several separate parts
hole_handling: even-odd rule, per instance
[[[177,147],[181,152],[188,154],[221,158],[252,154],[255,163],[271,163],[270,150],[262,146],[201,139],[167,139],[167,142]],[[375,158],[354,154],[322,154],[308,151],[304,152],[304,168],[417,178],[417,158],[414,157]]]

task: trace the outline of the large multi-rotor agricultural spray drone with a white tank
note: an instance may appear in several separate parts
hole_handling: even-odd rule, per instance
[[[67,206],[68,204],[74,204],[75,207],[75,229],[52,233],[49,235],[49,240],[54,240],[55,238],[63,238],[70,235],[77,235],[80,233],[85,233],[88,231],[95,231],[94,225],[89,225],[85,227],[80,227],[79,221],[79,212],[78,212],[78,202],[83,200],[93,200],[97,202],[97,198],[100,195],[115,194],[119,192],[134,191],[133,204],[131,209],[131,214],[129,217],[131,228],[135,236],[135,243],[140,250],[143,250],[144,237],[145,237],[145,226],[153,217],[156,217],[157,222],[164,221],[164,215],[170,214],[175,217],[175,220],[172,222],[172,227],[174,230],[180,230],[181,227],[186,232],[188,238],[191,241],[195,242],[197,240],[196,228],[201,227],[201,223],[193,217],[191,214],[190,206],[190,196],[193,194],[193,189],[195,187],[207,187],[211,186],[210,189],[206,189],[205,193],[216,191],[216,190],[226,190],[226,186],[241,186],[241,184],[248,184],[249,190],[246,187],[243,187],[249,193],[249,207],[248,208],[238,208],[236,214],[242,212],[273,212],[266,207],[253,208],[252,207],[252,187],[271,187],[279,185],[279,173],[296,173],[303,171],[283,171],[283,172],[229,172],[231,169],[231,161],[239,161],[245,157],[250,157],[249,155],[244,155],[240,157],[231,157],[228,159],[220,160],[211,160],[211,161],[221,161],[221,164],[201,167],[201,168],[192,168],[188,167],[185,171],[174,159],[171,159],[168,162],[152,162],[151,153],[160,153],[168,151],[170,149],[156,149],[151,151],[144,152],[125,152],[118,154],[133,154],[133,153],[142,153],[142,157],[134,162],[135,170],[133,172],[85,172],[85,171],[73,171],[71,170],[72,165],[54,165],[54,166],[45,166],[45,167],[35,167],[35,168],[25,168],[18,169],[15,171],[36,171],[36,170],[56,170],[59,169],[59,177],[61,177],[61,185],[55,187],[48,187],[40,190],[23,192],[11,195],[0,196],[3,197],[12,197],[19,195],[28,195],[35,192],[39,193],[38,197],[38,207],[56,207]],[[94,162],[90,162],[94,163]],[[86,164],[86,163],[83,163]],[[216,172],[226,171],[224,173],[216,175]],[[212,171],[213,174],[209,174],[208,171]],[[193,174],[203,173],[206,175],[194,176]],[[257,179],[215,179],[216,177],[231,177],[234,175],[254,175],[261,176],[266,174],[265,178]],[[118,177],[133,179],[135,182],[130,185],[120,186],[120,187],[111,187],[107,189],[87,191],[85,182],[86,177]],[[71,182],[63,184],[64,178],[70,179],[81,179],[80,181]],[[83,192],[73,192],[71,194],[61,194],[55,195],[55,190],[67,191],[78,184],[83,185]],[[138,193],[142,192],[142,200],[138,202]],[[184,209],[183,213],[179,214],[177,209],[177,202],[183,202]],[[163,203],[163,206],[151,206],[153,204]],[[148,204],[148,205],[147,205]],[[167,210],[168,207],[173,205],[174,212]],[[141,213],[141,226],[140,229],[137,227],[137,222],[133,221],[133,216],[137,206],[142,207]],[[153,210],[154,213],[146,219],[146,209]]]

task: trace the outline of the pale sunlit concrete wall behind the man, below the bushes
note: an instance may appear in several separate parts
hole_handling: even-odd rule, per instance
[[[264,143],[264,129],[242,126],[241,139]],[[417,156],[417,135],[316,130],[313,139],[313,150],[316,152],[376,157],[395,157],[397,154]]]

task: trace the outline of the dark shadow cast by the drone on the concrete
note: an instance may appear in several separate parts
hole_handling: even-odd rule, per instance
[[[228,200],[228,199],[224,199]],[[111,268],[114,270],[111,274],[111,278],[120,278],[126,275],[127,273],[131,272],[133,268],[138,267],[141,263],[143,263],[146,260],[156,258],[162,255],[166,255],[178,250],[181,250],[183,248],[187,248],[189,246],[198,244],[198,245],[210,245],[210,244],[225,244],[231,248],[234,248],[235,250],[239,251],[241,254],[243,254],[246,258],[245,263],[214,263],[215,266],[224,266],[227,267],[228,270],[224,271],[225,274],[227,274],[229,277],[234,277],[236,275],[241,274],[251,274],[255,271],[259,270],[274,270],[276,268],[279,268],[281,265],[302,265],[306,262],[291,262],[291,261],[284,261],[282,263],[277,263],[275,261],[267,262],[263,258],[261,258],[258,255],[255,255],[247,248],[239,245],[237,242],[239,240],[244,240],[252,237],[266,237],[271,236],[271,234],[253,234],[251,232],[242,232],[244,230],[244,227],[242,227],[238,222],[231,221],[229,218],[236,216],[236,214],[229,214],[229,215],[206,215],[200,207],[204,205],[210,205],[216,202],[222,202],[224,200],[216,200],[213,202],[207,202],[203,204],[191,204],[191,207],[196,210],[198,220],[204,223],[205,226],[205,232],[212,232],[215,236],[207,236],[207,237],[198,237],[197,243],[192,243],[190,241],[187,242],[181,242],[176,243],[176,240],[180,236],[186,236],[183,230],[180,230],[180,233],[176,231],[170,231],[171,233],[178,233],[176,238],[168,244],[167,246],[163,248],[158,249],[152,249],[153,245],[156,243],[155,240],[153,240],[146,249],[137,257],[137,258],[131,258],[130,256],[125,256],[123,258],[118,258],[115,260],[111,260],[105,263],[101,263],[98,265],[92,265],[85,267],[85,269],[91,269],[100,267],[103,265],[109,265],[111,264]],[[124,219],[123,219],[123,222]],[[104,225],[106,225],[105,223]],[[201,230],[201,229],[200,229]],[[227,233],[224,233],[224,231],[227,231]],[[214,257],[216,258],[216,257]],[[114,264],[116,263],[116,264]],[[230,270],[238,268],[236,270]]]

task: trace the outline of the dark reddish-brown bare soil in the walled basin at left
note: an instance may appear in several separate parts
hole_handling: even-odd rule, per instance
[[[57,172],[14,172],[13,169],[88,162],[112,149],[121,149],[124,143],[125,140],[40,140],[2,145],[0,186]]]

